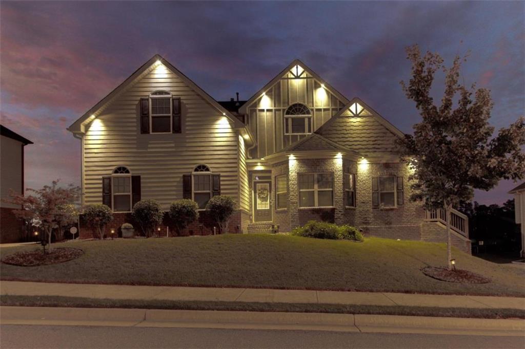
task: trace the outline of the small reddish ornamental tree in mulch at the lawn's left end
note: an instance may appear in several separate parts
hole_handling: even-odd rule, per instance
[[[79,187],[69,184],[66,188],[62,188],[58,187],[58,182],[57,179],[51,183],[51,186],[44,186],[38,190],[28,188],[26,190],[30,193],[28,195],[16,194],[12,191],[11,199],[6,200],[22,206],[22,209],[13,211],[17,218],[39,222],[48,239],[48,252],[51,252],[53,230],[71,219],[71,212],[64,208],[77,202],[81,195]]]

